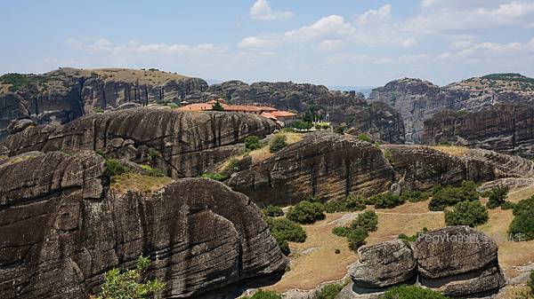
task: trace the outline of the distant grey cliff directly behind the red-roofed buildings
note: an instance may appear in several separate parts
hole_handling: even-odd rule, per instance
[[[323,85],[252,83],[240,81],[214,84],[208,98],[225,98],[231,103],[274,106],[281,110],[312,113],[318,119],[345,123],[356,134],[367,132],[388,143],[404,143],[401,115],[391,106],[368,104],[361,94],[328,90]]]

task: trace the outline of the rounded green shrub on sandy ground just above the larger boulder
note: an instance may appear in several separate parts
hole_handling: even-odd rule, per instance
[[[488,209],[480,201],[458,202],[453,210],[445,210],[447,225],[469,225],[471,227],[488,222]]]

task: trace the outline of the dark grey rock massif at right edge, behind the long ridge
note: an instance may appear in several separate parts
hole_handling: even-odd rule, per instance
[[[498,104],[472,113],[443,111],[425,121],[426,144],[450,142],[501,153],[534,154],[534,106]]]

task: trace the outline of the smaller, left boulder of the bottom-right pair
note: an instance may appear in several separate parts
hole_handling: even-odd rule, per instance
[[[412,250],[401,240],[390,240],[358,249],[360,258],[351,266],[358,287],[389,287],[412,279],[417,264]]]

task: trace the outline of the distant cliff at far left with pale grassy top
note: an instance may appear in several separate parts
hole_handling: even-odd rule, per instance
[[[12,83],[18,83],[16,88]],[[5,88],[4,88],[5,87]],[[124,103],[146,106],[198,98],[207,83],[158,70],[61,68],[44,75],[0,77],[0,140],[12,121],[37,124],[71,122],[96,108]]]

